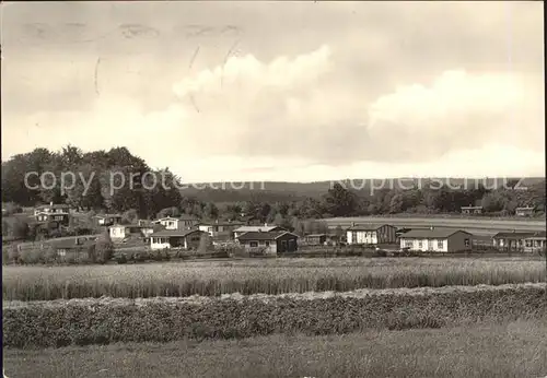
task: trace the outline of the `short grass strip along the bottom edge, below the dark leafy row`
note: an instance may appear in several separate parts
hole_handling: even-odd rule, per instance
[[[20,351],[8,377],[466,377],[547,375],[547,320],[467,328]]]

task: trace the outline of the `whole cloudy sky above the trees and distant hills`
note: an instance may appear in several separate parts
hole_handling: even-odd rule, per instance
[[[543,2],[2,3],[2,161],[186,182],[545,175]]]

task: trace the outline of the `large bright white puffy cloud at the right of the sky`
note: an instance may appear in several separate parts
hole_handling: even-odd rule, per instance
[[[542,151],[543,97],[524,75],[445,71],[429,86],[399,86],[371,104],[369,135],[382,146],[404,141],[374,149],[383,161],[431,161],[489,143]]]

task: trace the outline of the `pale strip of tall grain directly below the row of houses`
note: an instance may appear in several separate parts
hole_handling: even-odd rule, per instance
[[[545,282],[537,258],[248,259],[128,265],[3,267],[4,300],[217,296]]]

